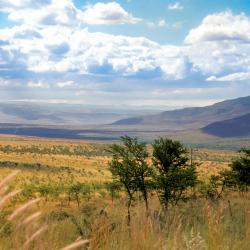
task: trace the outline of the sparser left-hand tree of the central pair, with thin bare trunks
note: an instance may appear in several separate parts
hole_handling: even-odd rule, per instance
[[[120,182],[127,193],[128,220],[130,221],[130,206],[134,194],[139,191],[148,209],[148,182],[152,176],[152,169],[147,163],[148,152],[145,143],[137,138],[121,137],[122,145],[114,144],[109,152],[112,160],[109,169],[115,181]]]

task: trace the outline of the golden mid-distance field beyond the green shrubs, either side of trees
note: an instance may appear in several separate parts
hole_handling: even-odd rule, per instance
[[[110,179],[107,169],[109,143],[51,140],[15,136],[0,137],[0,174],[21,169],[19,182],[77,181],[100,183]],[[201,175],[214,174],[228,166],[237,153],[231,150],[195,148],[193,159],[201,163]]]

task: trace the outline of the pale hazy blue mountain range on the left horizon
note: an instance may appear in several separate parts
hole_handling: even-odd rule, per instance
[[[0,123],[30,125],[110,124],[138,114],[159,111],[64,103],[0,102]]]

